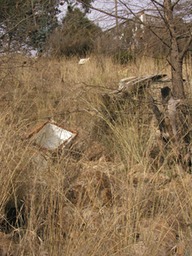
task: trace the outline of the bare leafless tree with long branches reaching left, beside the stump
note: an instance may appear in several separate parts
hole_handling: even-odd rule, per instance
[[[117,2],[116,2],[117,4]],[[168,49],[168,62],[171,66],[172,74],[172,93],[174,98],[185,98],[185,90],[183,85],[183,60],[192,43],[192,3],[189,0],[146,0],[142,4],[137,1],[130,4],[130,1],[119,0],[118,5],[120,13],[109,12],[94,7],[90,7],[96,11],[100,11],[119,20],[128,20],[134,18],[135,22],[142,24],[148,28]],[[122,9],[124,8],[124,13]],[[148,10],[155,13],[162,22],[162,27],[166,30],[168,38],[156,32],[155,24],[149,24],[138,17],[139,10]],[[162,31],[161,31],[162,33]]]

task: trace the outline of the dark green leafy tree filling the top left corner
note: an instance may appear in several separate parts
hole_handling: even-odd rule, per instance
[[[4,51],[32,46],[42,51],[57,26],[59,0],[0,0],[0,42]]]

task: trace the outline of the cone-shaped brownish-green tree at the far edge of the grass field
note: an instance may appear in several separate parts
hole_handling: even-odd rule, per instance
[[[100,32],[101,29],[80,9],[68,10],[62,27],[50,38],[51,52],[58,56],[85,56],[93,51],[95,38]]]

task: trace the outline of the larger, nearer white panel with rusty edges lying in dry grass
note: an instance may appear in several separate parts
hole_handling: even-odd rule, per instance
[[[55,124],[47,123],[33,136],[33,140],[43,148],[54,150],[64,142],[69,142],[74,136],[75,134],[72,132],[58,127]]]

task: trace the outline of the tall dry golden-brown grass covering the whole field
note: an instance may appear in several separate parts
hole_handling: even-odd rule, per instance
[[[192,176],[151,161],[147,103],[134,114],[128,104],[107,134],[93,132],[102,93],[125,76],[169,70],[150,59],[77,62],[0,60],[0,255],[191,255]],[[73,154],[37,165],[42,156],[25,135],[49,118],[78,140]]]

